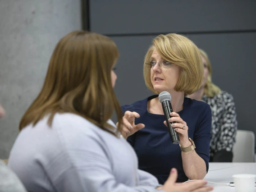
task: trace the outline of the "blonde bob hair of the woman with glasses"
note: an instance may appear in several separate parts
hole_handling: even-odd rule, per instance
[[[159,94],[153,88],[150,78],[151,69],[146,63],[151,61],[154,49],[163,59],[179,66],[180,74],[177,85],[174,87],[175,91],[182,91],[186,96],[201,87],[203,65],[197,46],[187,37],[169,33],[155,37],[144,58],[143,76],[146,86],[152,92]]]

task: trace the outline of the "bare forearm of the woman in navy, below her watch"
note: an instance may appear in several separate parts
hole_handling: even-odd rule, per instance
[[[185,174],[188,178],[203,179],[206,176],[206,163],[197,155],[195,150],[189,152],[181,152],[182,164]]]

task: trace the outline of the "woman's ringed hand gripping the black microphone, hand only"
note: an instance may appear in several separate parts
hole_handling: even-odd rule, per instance
[[[191,146],[191,142],[188,140],[188,127],[187,123],[183,121],[183,119],[180,118],[178,113],[172,112],[170,113],[171,118],[169,118],[169,122],[175,122],[171,124],[172,128],[175,129],[175,131],[178,133],[180,145],[185,148],[188,146]],[[164,124],[167,126],[166,121],[164,121]]]

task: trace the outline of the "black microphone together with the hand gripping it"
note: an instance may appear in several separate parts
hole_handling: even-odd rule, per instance
[[[159,94],[158,99],[162,104],[165,114],[165,125],[173,144],[180,144],[183,147],[191,146],[188,140],[187,123],[180,118],[178,113],[173,112],[171,105],[171,95],[167,91]]]

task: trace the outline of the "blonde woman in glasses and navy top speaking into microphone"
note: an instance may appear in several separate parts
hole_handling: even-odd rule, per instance
[[[155,175],[160,183],[165,183],[171,168],[178,169],[178,182],[204,178],[209,167],[211,110],[206,103],[185,97],[200,88],[203,78],[197,46],[175,33],[155,37],[145,56],[143,74],[146,86],[156,95],[123,106],[123,136],[129,136],[139,169]],[[162,91],[171,95],[174,112],[169,122],[176,122],[173,128],[180,146],[171,142],[164,124],[158,100]]]

